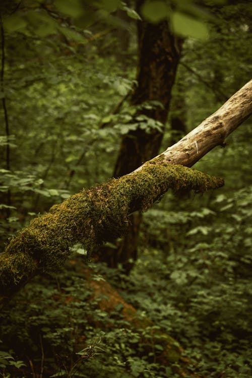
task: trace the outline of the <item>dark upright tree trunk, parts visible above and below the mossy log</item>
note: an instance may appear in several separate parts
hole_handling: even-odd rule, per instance
[[[150,24],[146,21],[138,22],[138,41],[138,86],[132,95],[131,103],[138,106],[149,101],[158,101],[160,105],[153,106],[151,109],[143,108],[137,115],[144,114],[151,117],[161,122],[164,127],[182,41],[173,36],[166,21],[159,24]],[[145,161],[156,156],[162,138],[163,131],[154,128],[148,132],[138,128],[125,135],[121,140],[113,176],[120,177],[130,173]],[[124,270],[129,271],[133,266],[133,262],[137,258],[141,218],[140,213],[130,217],[127,233],[116,243],[116,254],[114,249],[102,248],[100,256],[110,267],[121,263]]]

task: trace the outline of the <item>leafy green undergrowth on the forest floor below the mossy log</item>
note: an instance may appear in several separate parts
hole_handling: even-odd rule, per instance
[[[251,200],[248,187],[194,211],[156,205],[130,275],[88,264],[93,282],[108,281],[149,320],[144,329],[125,318],[123,304],[100,305],[104,295],[93,294],[79,254],[34,279],[0,314],[2,376],[178,377],[177,362],[160,358],[159,332],[182,346],[187,376],[250,376]]]

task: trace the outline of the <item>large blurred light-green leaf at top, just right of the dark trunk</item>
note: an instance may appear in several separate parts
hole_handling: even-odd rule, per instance
[[[175,34],[202,40],[208,39],[208,28],[203,21],[180,12],[173,12],[171,22]]]

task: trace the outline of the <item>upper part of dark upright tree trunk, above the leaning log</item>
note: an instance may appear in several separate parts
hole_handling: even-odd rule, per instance
[[[181,41],[171,34],[167,22],[159,24],[139,22],[138,35],[138,86],[132,95],[131,103],[141,105],[148,101],[160,102],[161,106],[143,109],[141,114],[164,124],[179,61]],[[163,133],[156,129],[150,133],[137,129],[125,135],[121,141],[114,177],[130,173],[156,156],[162,138]]]

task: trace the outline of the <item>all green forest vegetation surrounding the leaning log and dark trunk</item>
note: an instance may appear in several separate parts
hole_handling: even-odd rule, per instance
[[[121,5],[123,16],[113,9],[121,2],[97,2],[94,19],[83,11],[81,21],[78,4],[88,2],[17,3],[0,4],[2,250],[52,205],[109,182],[122,136],[162,130],[138,115],[160,104],[129,101],[137,85],[134,2]],[[198,10],[196,3],[188,7]],[[208,39],[181,31],[160,152],[176,138],[172,118],[187,133],[250,79],[251,4],[205,3]],[[184,14],[205,25],[189,8]],[[78,243],[66,265],[26,284],[0,311],[0,376],[252,376],[251,138],[248,119],[194,166],[224,177],[224,187],[169,191],[143,214],[130,273]],[[116,240],[107,244],[116,250]]]

